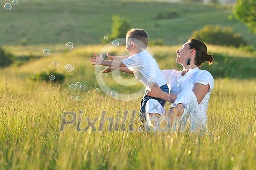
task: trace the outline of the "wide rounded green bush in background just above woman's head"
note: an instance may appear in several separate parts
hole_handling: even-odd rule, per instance
[[[247,42],[239,33],[233,33],[231,27],[221,28],[219,25],[206,25],[202,30],[194,31],[191,38],[201,39],[208,44],[239,47]]]

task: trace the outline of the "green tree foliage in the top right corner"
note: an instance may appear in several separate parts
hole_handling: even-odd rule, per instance
[[[237,0],[234,14],[256,34],[256,0]]]

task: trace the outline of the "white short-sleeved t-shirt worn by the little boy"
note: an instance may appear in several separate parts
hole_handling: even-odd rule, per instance
[[[133,72],[135,78],[146,87],[149,83],[156,83],[160,87],[167,83],[156,60],[147,50],[134,54],[122,62]]]

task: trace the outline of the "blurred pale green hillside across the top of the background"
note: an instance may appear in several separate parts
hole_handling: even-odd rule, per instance
[[[113,15],[130,19],[132,27],[144,28],[150,39],[166,45],[184,43],[193,31],[205,25],[232,27],[256,47],[256,35],[236,19],[229,19],[231,7],[124,0],[20,0],[10,11],[0,1],[0,45],[99,44],[111,33]],[[196,9],[196,10],[195,10]],[[157,19],[177,12],[179,17]],[[125,36],[125,35],[124,35]]]

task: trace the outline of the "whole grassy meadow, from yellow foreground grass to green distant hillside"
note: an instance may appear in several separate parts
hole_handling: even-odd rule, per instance
[[[0,6],[4,2],[7,0],[0,1]],[[154,18],[177,7],[179,18]],[[3,10],[0,9],[0,45],[16,60],[0,68],[0,170],[256,169],[256,52],[207,44],[209,53],[215,56],[213,65],[202,67],[215,78],[207,111],[211,136],[187,131],[138,132],[142,96],[128,101],[110,97],[99,86],[96,77],[100,75],[89,62],[94,52],[104,49],[99,44],[111,32],[111,16],[116,14],[130,19],[132,27],[145,28],[151,39],[164,40],[165,46],[148,48],[161,69],[182,69],[175,63],[175,51],[195,29],[209,23],[232,26],[256,46],[255,35],[237,20],[228,19],[230,7],[116,0],[23,0],[12,10]],[[20,45],[24,39],[28,44]],[[65,47],[68,41],[74,43],[72,50]],[[50,49],[49,56],[42,54],[44,48]],[[124,45],[108,51],[113,55],[127,54]],[[54,60],[59,62],[56,68],[52,65]],[[66,72],[66,64],[73,64],[74,71]],[[62,84],[31,80],[42,72],[49,76],[53,72],[63,74],[65,80]],[[121,73],[118,78],[132,81],[133,75]],[[143,88],[138,82],[121,85],[112,74],[103,80],[118,94]],[[78,81],[86,89],[70,91],[69,85]],[[99,93],[96,88],[101,89]],[[77,95],[81,97],[79,102],[71,98]],[[61,131],[65,112],[75,113],[76,117],[65,117],[65,121],[75,119]],[[103,113],[105,118],[113,118],[111,131],[110,119],[100,128]],[[127,120],[122,127],[125,114]],[[95,129],[89,126],[94,120]]]

